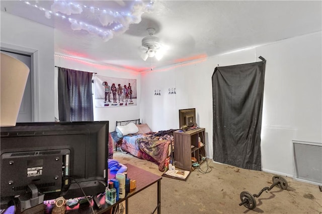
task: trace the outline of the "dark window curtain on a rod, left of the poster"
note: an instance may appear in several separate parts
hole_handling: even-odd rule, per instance
[[[60,121],[93,121],[93,73],[58,68]]]

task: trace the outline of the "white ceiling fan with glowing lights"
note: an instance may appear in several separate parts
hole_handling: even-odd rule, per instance
[[[148,28],[146,31],[149,36],[142,39],[143,53],[141,54],[141,58],[144,61],[146,61],[148,57],[155,57],[157,60],[162,59],[165,53],[165,46],[160,44],[159,38],[153,36],[155,33],[154,28]]]

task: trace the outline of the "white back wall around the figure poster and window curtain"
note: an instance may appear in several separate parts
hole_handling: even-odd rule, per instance
[[[94,120],[108,120],[109,131],[115,131],[116,121],[124,121],[139,118],[139,105],[140,105],[140,75],[133,72],[124,72],[118,69],[113,69],[110,66],[99,65],[96,63],[87,62],[84,60],[77,60],[72,58],[63,58],[55,56],[55,66],[68,68],[78,71],[87,71],[97,73],[100,76],[136,79],[137,84],[137,102],[136,106],[113,107],[113,108],[97,108],[94,105]],[[94,93],[94,92],[93,92]],[[94,97],[93,97],[94,101]],[[56,109],[58,104],[55,103]],[[56,115],[58,111],[56,110]]]

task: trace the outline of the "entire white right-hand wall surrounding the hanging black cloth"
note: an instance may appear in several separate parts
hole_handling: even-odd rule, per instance
[[[292,176],[291,141],[321,143],[321,32],[252,49],[214,56],[200,64],[142,74],[140,117],[152,130],[179,128],[178,109],[196,108],[197,123],[206,128],[207,157],[212,158],[212,83],[214,68],[267,60],[262,168]],[[154,88],[177,94],[154,96]],[[166,110],[164,110],[166,108]]]

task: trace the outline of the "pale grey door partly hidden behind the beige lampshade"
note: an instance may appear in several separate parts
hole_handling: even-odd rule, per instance
[[[16,53],[11,53],[6,51],[1,51],[1,52],[20,60],[21,62],[25,63],[30,69],[24,96],[22,98],[22,102],[20,105],[17,122],[32,122],[31,57],[27,55],[16,54]]]

